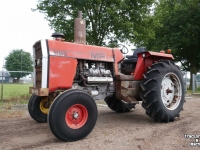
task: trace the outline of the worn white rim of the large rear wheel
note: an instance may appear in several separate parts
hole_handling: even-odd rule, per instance
[[[169,110],[176,109],[181,95],[181,84],[178,77],[174,73],[166,74],[161,83],[161,98],[164,106]]]

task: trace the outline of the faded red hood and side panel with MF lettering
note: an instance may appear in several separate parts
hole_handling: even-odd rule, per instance
[[[107,48],[48,40],[49,49],[49,92],[72,87],[78,61],[94,60],[114,64],[115,74],[118,74],[117,64],[123,60],[123,55],[117,48]]]

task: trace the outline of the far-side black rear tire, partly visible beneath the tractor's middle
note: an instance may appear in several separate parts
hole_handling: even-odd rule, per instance
[[[135,104],[129,104],[124,101],[118,100],[114,94],[113,96],[106,97],[104,99],[108,107],[118,113],[129,112],[132,108],[135,108]]]

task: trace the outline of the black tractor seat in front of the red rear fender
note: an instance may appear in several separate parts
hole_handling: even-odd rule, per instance
[[[137,54],[138,54],[138,53],[145,52],[145,51],[146,51],[146,48],[145,48],[145,47],[137,48],[136,50],[134,50],[133,55],[126,55],[126,58],[128,58],[128,59],[125,59],[125,60],[123,61],[123,64],[132,64],[132,63],[136,63],[136,62],[137,62],[137,59],[138,59]]]

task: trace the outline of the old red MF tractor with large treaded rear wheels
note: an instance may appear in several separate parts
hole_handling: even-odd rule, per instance
[[[159,122],[179,117],[185,91],[171,54],[138,48],[124,58],[125,46],[77,44],[62,41],[62,36],[34,44],[34,86],[28,104],[31,117],[48,121],[57,138],[76,141],[87,136],[97,120],[95,100],[104,99],[120,113],[142,101],[146,114]]]

